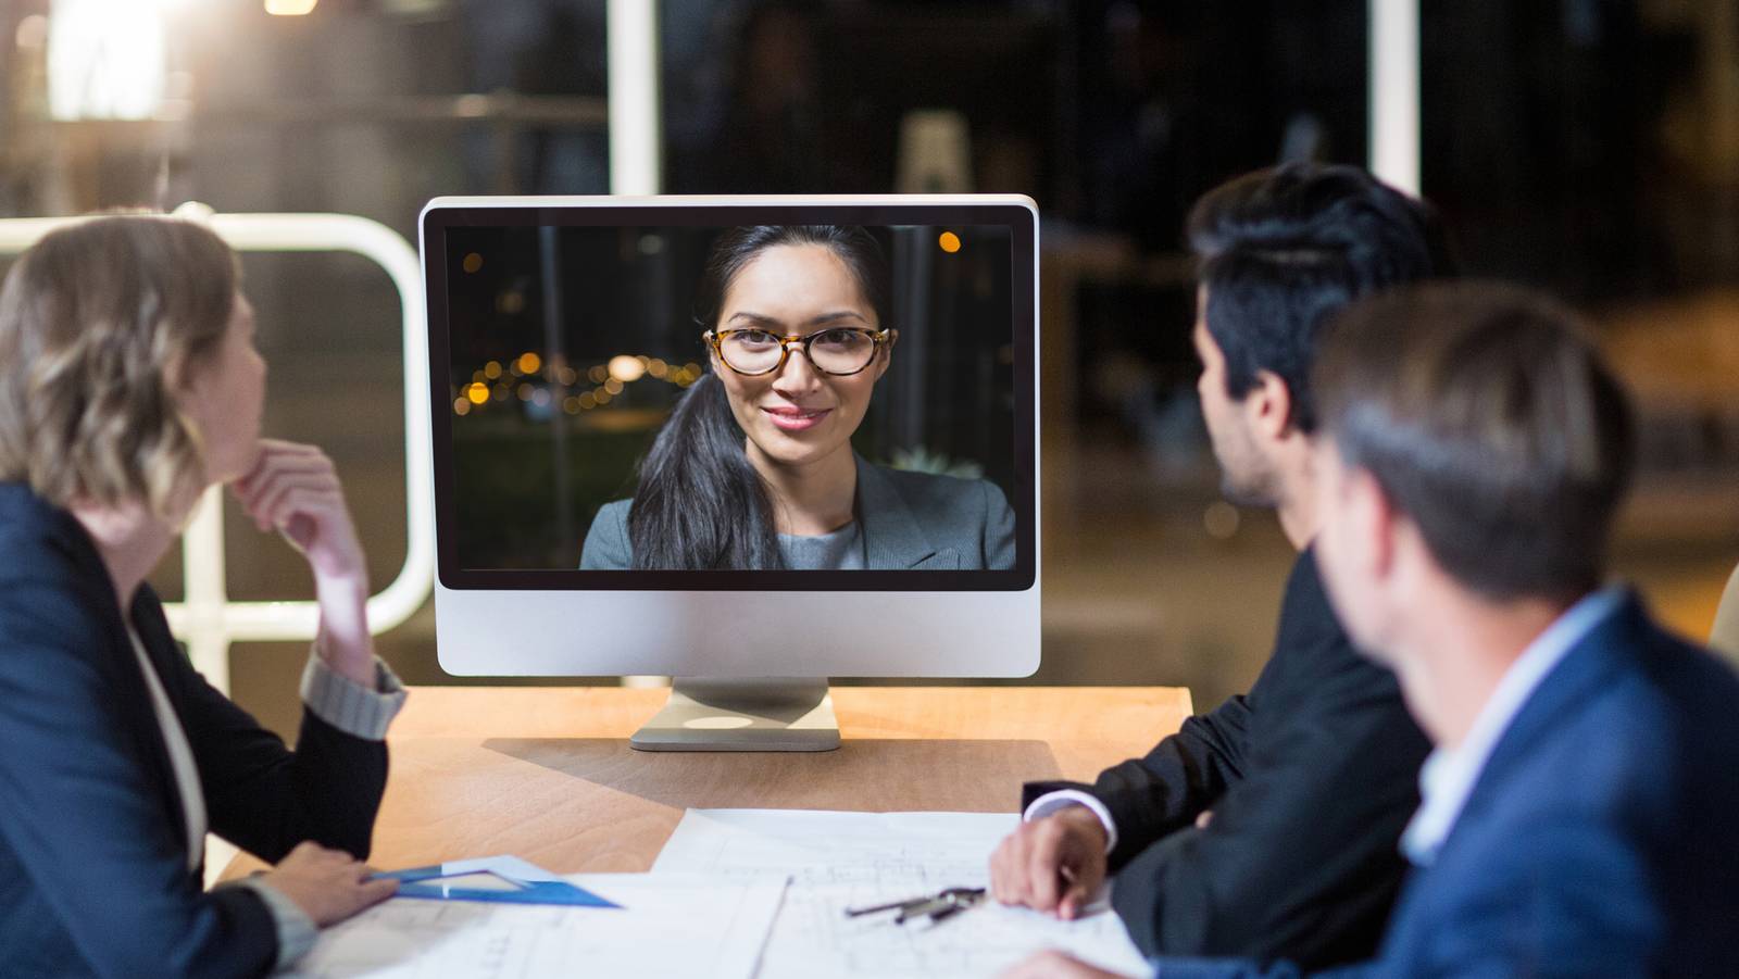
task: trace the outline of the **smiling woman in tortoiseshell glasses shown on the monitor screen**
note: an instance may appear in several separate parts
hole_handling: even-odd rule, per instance
[[[852,450],[887,372],[887,264],[863,228],[732,228],[701,285],[711,372],[664,423],[631,501],[605,504],[581,569],[1014,567],[995,483]]]

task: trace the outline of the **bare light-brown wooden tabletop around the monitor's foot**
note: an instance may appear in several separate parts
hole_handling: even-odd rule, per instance
[[[631,749],[666,694],[414,687],[369,862],[645,871],[687,807],[1014,812],[1023,781],[1092,779],[1191,711],[1181,687],[835,687],[838,751]],[[242,856],[224,876],[259,866]]]

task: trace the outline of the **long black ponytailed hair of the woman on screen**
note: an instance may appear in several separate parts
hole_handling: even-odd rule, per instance
[[[857,278],[864,299],[887,327],[887,261],[863,228],[760,224],[730,228],[706,259],[696,322],[713,329],[725,290],[750,261],[774,245],[823,245]],[[743,450],[725,384],[708,372],[676,403],[640,463],[640,485],[628,511],[628,543],[636,569],[772,570],[779,560],[772,496]]]

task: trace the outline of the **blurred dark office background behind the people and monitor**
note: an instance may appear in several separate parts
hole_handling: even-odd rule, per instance
[[[1026,682],[1188,685],[1210,708],[1266,659],[1292,555],[1269,513],[1219,497],[1181,224],[1233,174],[1369,160],[1386,3],[657,0],[663,191],[1038,202],[1045,663]],[[1739,562],[1739,5],[1409,5],[1423,193],[1468,271],[1596,325],[1643,430],[1617,570],[1701,638]],[[605,12],[0,0],[0,217],[197,200],[416,242],[436,195],[607,193]],[[398,294],[355,254],[243,264],[266,430],[337,461],[381,588],[405,558]],[[231,598],[311,596],[285,544],[233,508],[224,529]],[[183,593],[179,555],[153,583]],[[379,649],[407,682],[454,682],[428,603]],[[233,694],[290,730],[304,656],[233,643]]]

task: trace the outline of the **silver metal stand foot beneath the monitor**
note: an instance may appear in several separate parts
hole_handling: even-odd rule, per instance
[[[664,709],[628,743],[640,751],[833,751],[840,723],[824,678],[678,676]]]

